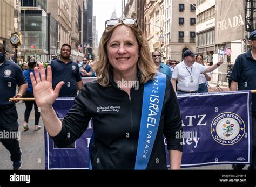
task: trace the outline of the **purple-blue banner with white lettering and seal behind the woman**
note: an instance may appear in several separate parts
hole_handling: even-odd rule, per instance
[[[251,162],[250,91],[179,95],[178,102],[183,132],[176,132],[176,136],[183,138],[182,167]],[[62,120],[72,105],[73,98],[58,98],[53,109]],[[75,143],[61,149],[45,131],[45,168],[87,169],[92,127],[91,120]],[[169,159],[167,162],[169,165]]]

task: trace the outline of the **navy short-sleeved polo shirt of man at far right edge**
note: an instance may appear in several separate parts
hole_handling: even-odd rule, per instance
[[[235,59],[230,75],[232,81],[238,82],[238,90],[256,90],[256,60],[251,50],[240,54]],[[256,93],[252,93],[252,111],[256,111]]]

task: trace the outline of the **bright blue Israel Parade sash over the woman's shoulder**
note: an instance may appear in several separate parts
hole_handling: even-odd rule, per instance
[[[166,75],[162,73],[144,85],[135,169],[146,169],[149,163],[163,108],[165,87]]]

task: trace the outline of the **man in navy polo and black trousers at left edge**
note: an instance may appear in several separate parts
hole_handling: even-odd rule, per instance
[[[16,85],[19,87],[17,94]],[[0,142],[9,150],[14,169],[21,168],[22,159],[18,142],[20,137],[17,136],[18,113],[15,103],[10,102],[9,98],[22,97],[27,88],[22,69],[5,59],[5,46],[0,44],[0,132],[2,135],[9,134],[9,137],[0,136]]]

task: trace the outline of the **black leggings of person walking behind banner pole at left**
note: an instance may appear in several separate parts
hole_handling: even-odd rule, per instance
[[[24,97],[34,97],[33,92],[26,92],[26,95]],[[35,125],[38,125],[39,119],[40,119],[40,112],[38,112],[36,102],[35,101],[25,101],[25,105],[26,105],[26,110],[25,110],[25,113],[24,113],[24,121],[26,121],[26,123],[29,122],[30,112],[31,112],[31,110],[33,108],[33,105],[34,105]]]

